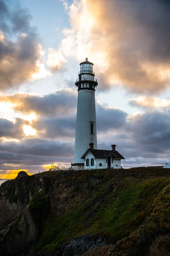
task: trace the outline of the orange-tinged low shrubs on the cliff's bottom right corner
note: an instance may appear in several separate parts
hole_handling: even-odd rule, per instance
[[[152,237],[170,231],[170,186],[161,190],[153,202],[152,212],[136,231],[120,241],[115,248],[115,256],[121,256],[122,251],[129,255],[144,255]],[[140,254],[139,254],[140,252]]]

